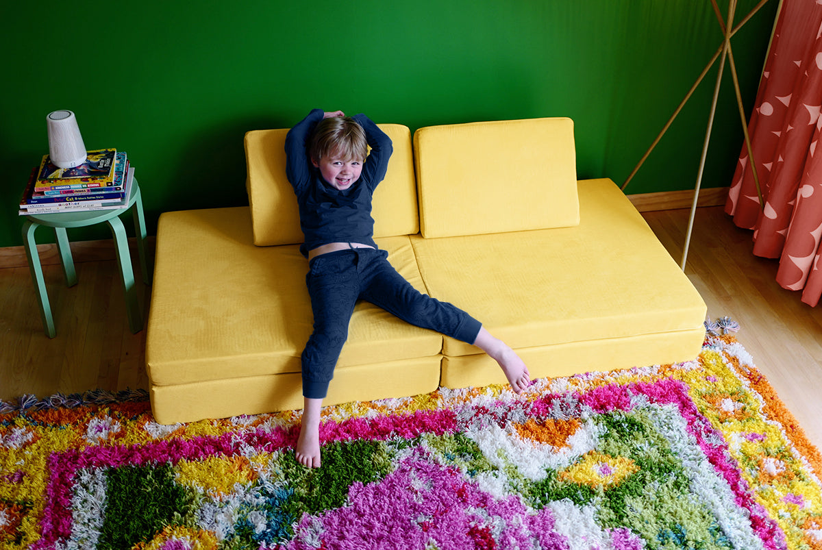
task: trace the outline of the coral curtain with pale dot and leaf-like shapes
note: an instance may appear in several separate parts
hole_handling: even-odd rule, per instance
[[[754,229],[754,254],[779,258],[777,282],[810,306],[822,295],[820,106],[822,4],[783,0],[749,124],[764,207],[743,146],[725,211]]]

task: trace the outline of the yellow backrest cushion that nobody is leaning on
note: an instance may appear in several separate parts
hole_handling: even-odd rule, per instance
[[[414,153],[423,237],[580,223],[570,118],[423,127]]]

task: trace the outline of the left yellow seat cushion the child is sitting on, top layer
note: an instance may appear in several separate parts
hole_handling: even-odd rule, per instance
[[[426,290],[408,236],[376,243],[400,275]],[[155,265],[145,350],[152,385],[300,372],[312,332],[308,263],[297,245],[256,247],[247,207],[164,213]],[[436,332],[358,303],[338,369],[436,356],[441,348]]]

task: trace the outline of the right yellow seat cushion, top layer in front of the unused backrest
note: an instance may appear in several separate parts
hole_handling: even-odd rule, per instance
[[[702,298],[619,188],[588,180],[579,194],[575,227],[413,237],[429,293],[515,349],[703,330]],[[446,357],[476,353],[445,339]]]

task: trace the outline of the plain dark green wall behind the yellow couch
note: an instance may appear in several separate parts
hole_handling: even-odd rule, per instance
[[[733,40],[748,113],[775,10]],[[568,116],[579,177],[621,184],[722,40],[709,0],[48,0],[3,16],[0,247],[21,244],[16,204],[55,109],[88,148],[127,150],[154,233],[165,210],[247,204],[243,134],[313,107],[412,131]],[[694,186],[717,67],[626,192]],[[727,72],[712,139],[704,187],[727,186],[742,144]]]

